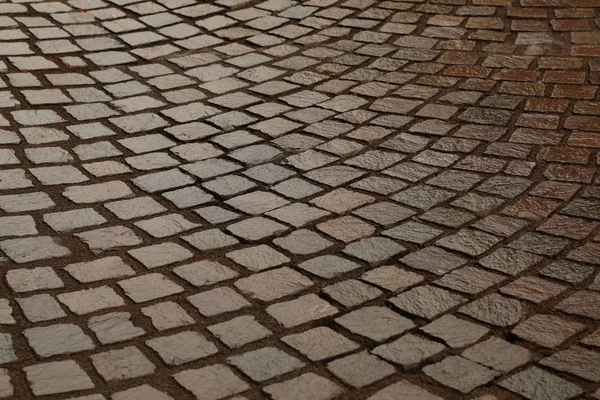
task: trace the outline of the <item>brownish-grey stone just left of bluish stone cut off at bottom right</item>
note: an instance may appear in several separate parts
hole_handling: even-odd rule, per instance
[[[423,368],[423,372],[442,385],[465,394],[487,384],[499,375],[491,369],[459,356],[450,356],[436,364],[428,365]]]

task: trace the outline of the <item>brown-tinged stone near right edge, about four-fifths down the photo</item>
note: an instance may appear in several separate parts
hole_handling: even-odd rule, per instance
[[[536,314],[513,328],[512,333],[539,346],[556,348],[585,325],[555,315]]]

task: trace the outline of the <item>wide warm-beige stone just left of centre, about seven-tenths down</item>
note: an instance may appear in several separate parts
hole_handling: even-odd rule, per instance
[[[260,272],[235,282],[243,293],[263,301],[289,296],[312,285],[313,281],[288,267]]]

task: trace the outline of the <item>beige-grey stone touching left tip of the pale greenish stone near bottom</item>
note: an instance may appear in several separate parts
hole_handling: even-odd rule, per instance
[[[186,364],[218,352],[212,342],[191,331],[147,340],[146,344],[169,365]]]

